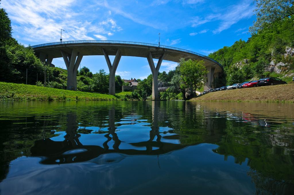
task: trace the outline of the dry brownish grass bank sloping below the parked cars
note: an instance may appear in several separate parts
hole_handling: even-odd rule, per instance
[[[190,101],[294,102],[294,84],[217,91]]]

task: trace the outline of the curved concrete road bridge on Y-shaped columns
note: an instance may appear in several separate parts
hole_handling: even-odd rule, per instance
[[[121,56],[147,58],[153,76],[152,99],[158,99],[158,72],[162,60],[179,62],[180,58],[203,60],[209,73],[204,89],[210,88],[214,78],[223,72],[223,67],[215,60],[199,53],[180,48],[130,41],[64,41],[31,46],[44,63],[51,64],[54,58],[63,58],[67,68],[67,90],[77,90],[76,73],[83,56],[103,55],[109,69],[109,94],[115,95],[115,73]],[[115,56],[111,63],[110,56]],[[153,59],[158,59],[154,64]]]

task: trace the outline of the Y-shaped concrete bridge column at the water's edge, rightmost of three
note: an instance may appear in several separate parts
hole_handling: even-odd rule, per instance
[[[147,60],[152,72],[152,100],[158,100],[158,71],[163,59],[164,53],[160,56],[160,58],[158,59],[157,65],[155,67],[154,65],[154,61],[151,55],[151,52],[149,51],[148,56],[147,56]]]

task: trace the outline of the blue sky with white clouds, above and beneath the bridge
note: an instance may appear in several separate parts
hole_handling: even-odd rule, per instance
[[[203,55],[250,37],[255,19],[253,0],[2,0],[11,19],[13,37],[25,46],[63,41],[117,40],[187,49]],[[113,56],[110,57],[114,59]],[[155,60],[156,62],[156,60]],[[52,62],[66,68],[62,58]],[[175,68],[163,61],[160,71]],[[108,71],[104,56],[84,56],[81,66],[93,73]],[[116,74],[146,78],[146,58],[122,56]]]

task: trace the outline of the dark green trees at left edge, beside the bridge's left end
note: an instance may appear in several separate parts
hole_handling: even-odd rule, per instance
[[[28,69],[28,84],[34,85],[37,74],[39,80],[44,75],[43,63],[31,48],[25,48],[11,37],[11,21],[3,8],[0,9],[0,26],[0,81],[26,83]]]

